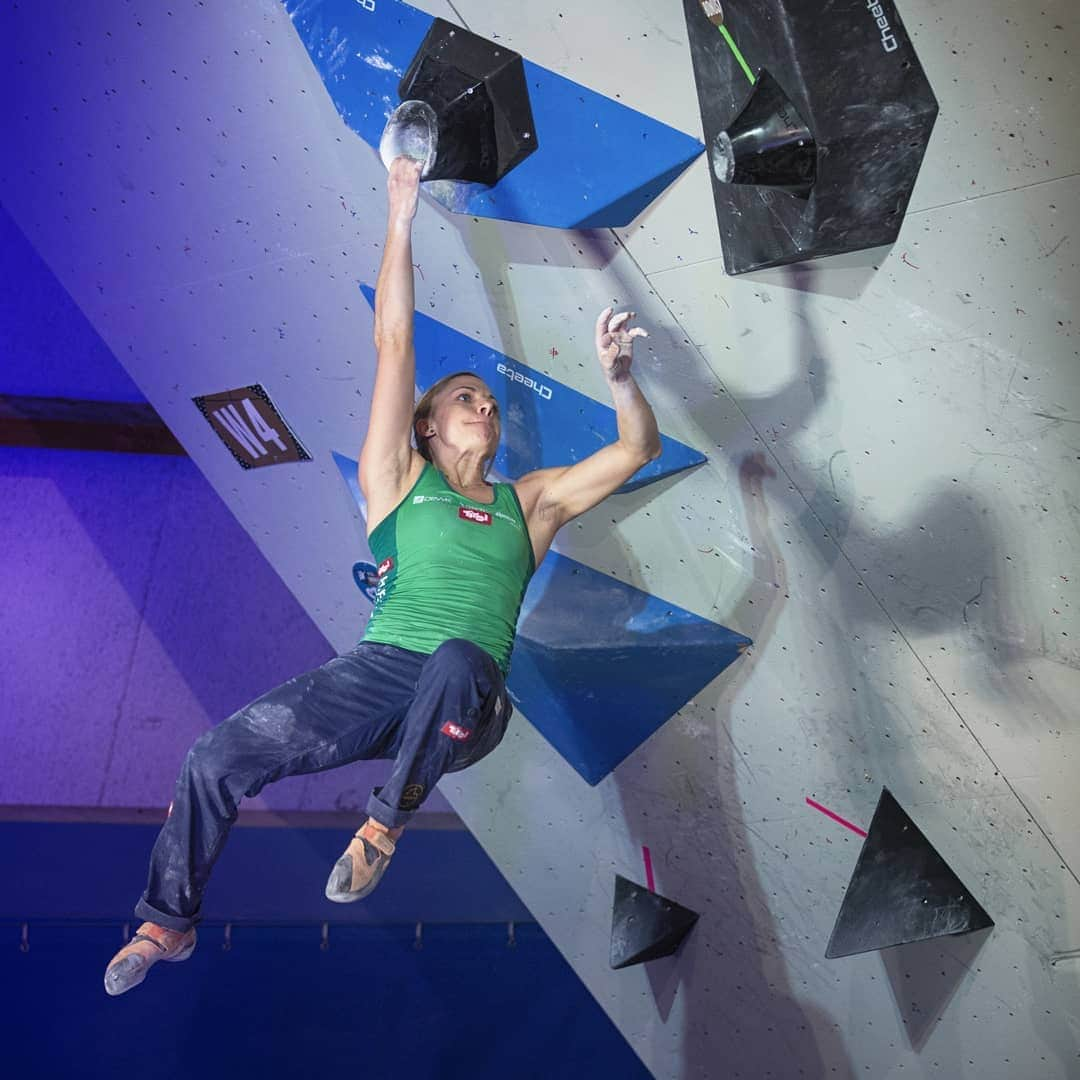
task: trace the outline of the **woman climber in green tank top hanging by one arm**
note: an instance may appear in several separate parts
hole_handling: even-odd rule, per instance
[[[333,901],[366,896],[438,778],[502,739],[522,597],[555,534],[660,454],[652,409],[630,372],[634,338],[645,332],[630,327],[632,313],[610,308],[596,323],[596,352],[619,437],[576,464],[490,483],[499,411],[469,372],[441,379],[414,405],[419,183],[416,162],[394,159],[375,297],[375,389],[360,456],[379,568],[375,609],[350,652],[271,690],[191,747],[135,908],[145,921],[106,969],[111,995],[137,986],[158,960],[191,955],[202,895],[240,800],[282,777],[393,759],[326,883]]]

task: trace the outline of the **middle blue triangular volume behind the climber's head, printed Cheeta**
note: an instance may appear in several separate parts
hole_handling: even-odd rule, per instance
[[[375,292],[367,285],[361,285],[361,291],[374,307]],[[445,323],[417,313],[414,345],[420,387],[430,387],[454,372],[470,370],[491,388],[502,415],[502,443],[495,469],[503,476],[517,480],[534,469],[573,464],[619,437],[610,405],[602,405]],[[632,491],[705,460],[685,443],[666,435],[660,441],[660,457],[634,473],[621,491]]]

